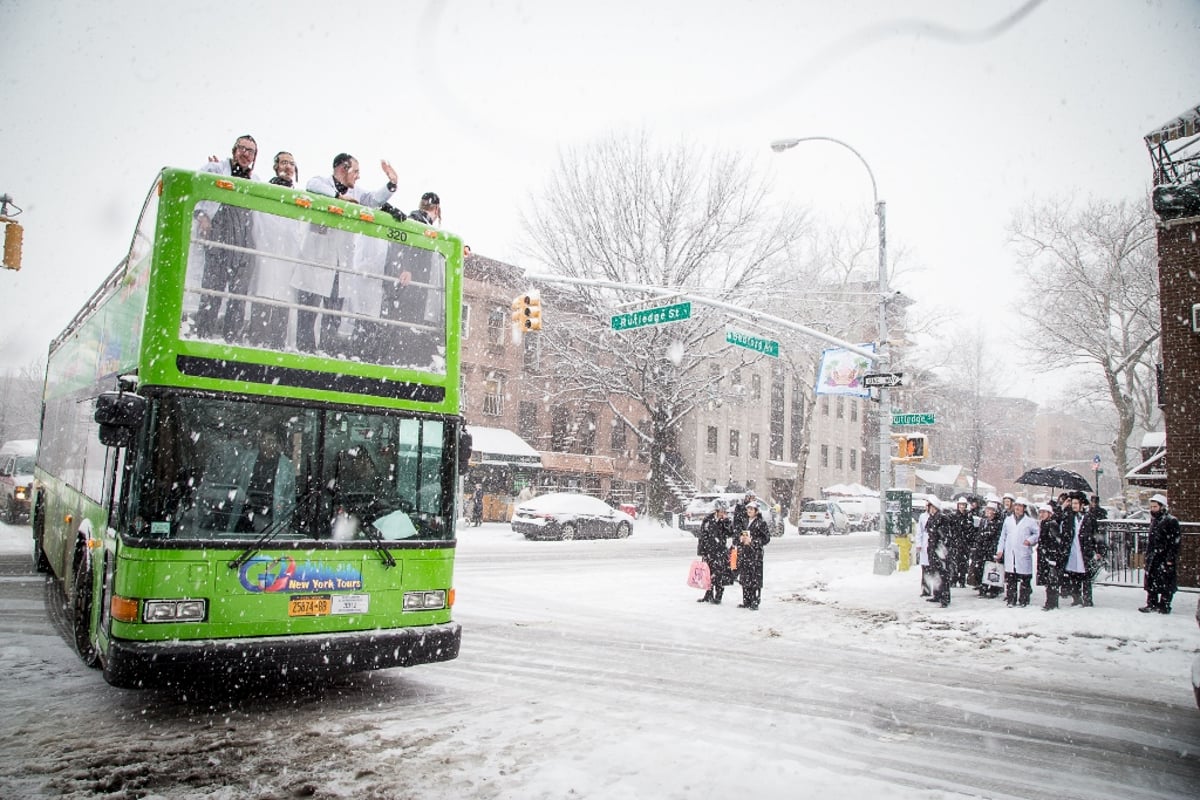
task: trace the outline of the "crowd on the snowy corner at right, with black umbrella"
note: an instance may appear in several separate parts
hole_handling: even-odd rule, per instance
[[[1171,612],[1177,588],[1176,561],[1180,523],[1168,512],[1166,498],[1150,500],[1151,525],[1145,563],[1146,606],[1142,613]],[[1036,517],[1034,517],[1036,515]],[[1012,608],[1030,604],[1034,575],[1045,587],[1043,610],[1058,608],[1062,597],[1072,606],[1091,607],[1092,581],[1104,558],[1098,536],[1105,517],[1099,503],[1082,492],[1064,492],[1057,500],[1032,504],[1024,497],[962,495],[952,503],[926,503],[917,521],[916,557],[922,567],[922,596],[943,608],[953,587],[976,589],[980,597],[1004,594]],[[1036,552],[1036,558],[1034,558]],[[1003,573],[1003,587],[985,579],[984,571]]]

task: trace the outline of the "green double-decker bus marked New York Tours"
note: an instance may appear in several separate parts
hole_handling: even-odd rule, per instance
[[[113,685],[454,658],[462,241],[163,170],[50,344],[34,560]]]

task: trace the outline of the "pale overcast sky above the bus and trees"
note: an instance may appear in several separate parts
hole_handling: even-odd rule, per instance
[[[1003,336],[1013,209],[1145,197],[1141,137],[1200,103],[1196,0],[354,7],[0,0],[0,193],[25,225],[24,269],[0,273],[0,369],[44,357],[121,258],[158,168],[226,156],[244,132],[264,179],[281,149],[302,180],[349,151],[368,187],[388,158],[396,205],[437,191],[445,227],[512,263],[563,148],[684,137],[760,158],[820,215],[869,213],[847,151],[767,146],[835,137],[887,200],[914,313],[982,307]]]

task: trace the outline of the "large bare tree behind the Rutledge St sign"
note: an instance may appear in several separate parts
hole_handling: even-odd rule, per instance
[[[768,196],[769,182],[738,156],[658,148],[644,134],[613,137],[559,157],[541,197],[530,200],[527,251],[565,276],[739,302],[766,294],[803,230],[803,217],[764,201]],[[718,313],[695,309],[672,325],[611,330],[612,313],[646,300],[596,288],[560,294],[557,302],[572,313],[554,317],[541,348],[547,402],[607,403],[649,447],[648,500],[660,515],[670,482],[690,477],[676,443],[680,420],[708,398],[710,365],[728,371],[738,362],[718,335],[725,324]],[[641,409],[637,419],[622,399]]]

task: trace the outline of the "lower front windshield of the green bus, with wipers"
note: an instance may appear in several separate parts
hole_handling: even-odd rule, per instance
[[[133,464],[130,534],[353,542],[452,537],[442,420],[167,395]]]

